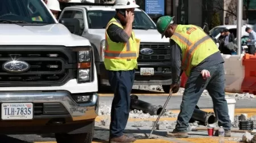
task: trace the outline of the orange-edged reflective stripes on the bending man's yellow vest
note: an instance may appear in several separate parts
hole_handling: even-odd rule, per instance
[[[182,59],[182,67],[183,70],[187,70],[189,63],[191,62],[191,58],[193,56],[193,53],[195,52],[195,50],[197,49],[197,47],[199,47],[201,44],[203,44],[204,42],[206,42],[207,40],[210,39],[209,36],[205,36],[203,38],[201,38],[200,40],[192,43],[190,42],[187,38],[185,38],[184,36],[182,36],[180,33],[174,33],[174,35],[177,39],[180,40],[180,42],[182,42],[183,44],[187,45],[188,49],[185,53],[185,56]],[[188,57],[188,58],[187,58]]]

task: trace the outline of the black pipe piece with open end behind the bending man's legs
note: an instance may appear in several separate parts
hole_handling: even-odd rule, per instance
[[[213,124],[217,122],[217,118],[214,115],[214,112],[205,112],[199,109],[198,106],[195,107],[193,115],[189,120],[189,123],[193,123],[195,121],[203,123],[205,126],[209,124]]]

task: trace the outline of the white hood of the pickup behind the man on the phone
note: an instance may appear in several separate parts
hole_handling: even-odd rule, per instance
[[[157,30],[133,30],[135,37],[141,39],[141,42],[169,42],[169,38],[161,38],[161,34]],[[105,38],[105,29],[89,29],[88,33],[90,37],[101,37],[101,40]]]

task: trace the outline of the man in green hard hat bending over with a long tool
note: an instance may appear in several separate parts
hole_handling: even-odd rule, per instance
[[[201,94],[208,90],[213,100],[218,125],[224,127],[225,136],[231,136],[231,122],[225,99],[224,59],[212,38],[196,25],[175,24],[174,17],[162,16],[156,21],[162,38],[170,38],[172,84],[170,93],[179,90],[179,76],[184,71],[188,80],[177,124],[168,137],[188,137],[188,122]],[[218,135],[218,132],[215,133]]]

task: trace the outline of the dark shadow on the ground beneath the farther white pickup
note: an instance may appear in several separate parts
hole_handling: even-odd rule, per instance
[[[100,92],[98,92],[98,93],[100,93],[100,94],[111,94],[111,93],[113,93],[113,91],[112,91],[112,89],[110,88],[110,86],[101,86],[101,91]],[[148,94],[163,94],[164,92],[162,92],[162,91],[150,91],[150,90],[142,90],[142,89],[133,89],[133,90],[131,90],[131,94],[146,94],[146,93],[148,93]]]

